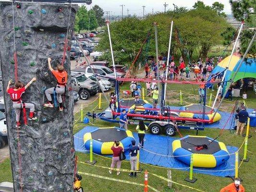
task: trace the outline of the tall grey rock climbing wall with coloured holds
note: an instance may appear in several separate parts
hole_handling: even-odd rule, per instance
[[[3,87],[15,81],[13,60],[13,18],[17,53],[17,76],[24,84],[33,77],[37,81],[23,94],[24,102],[35,104],[37,121],[28,121],[15,128],[15,113],[10,96],[5,91],[12,175],[15,192],[73,192],[73,94],[68,79],[64,110],[43,108],[47,101],[44,91],[57,81],[48,69],[47,58],[52,58],[55,69],[63,56],[64,42],[68,47],[64,68],[70,75],[71,34],[77,5],[56,3],[0,1],[0,61]],[[59,10],[61,8],[61,10]],[[13,17],[14,16],[14,17]],[[69,22],[70,17],[70,22]],[[69,27],[68,27],[69,24]],[[66,36],[68,31],[68,36]],[[28,117],[28,110],[26,116]]]

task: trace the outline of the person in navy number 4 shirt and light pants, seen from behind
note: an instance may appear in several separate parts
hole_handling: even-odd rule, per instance
[[[140,150],[138,146],[135,145],[135,141],[132,141],[132,146],[130,145],[129,155],[132,172],[129,174],[130,177],[137,177],[137,154]]]

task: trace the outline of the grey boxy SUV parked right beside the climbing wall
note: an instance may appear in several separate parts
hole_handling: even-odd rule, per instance
[[[87,100],[98,93],[99,86],[82,73],[71,74],[72,90],[78,92],[81,99]]]

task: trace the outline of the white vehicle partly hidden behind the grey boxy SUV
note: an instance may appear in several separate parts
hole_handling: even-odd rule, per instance
[[[96,77],[90,74],[86,74],[85,73],[85,68],[75,68],[71,71],[71,74],[75,74],[75,73],[82,73],[85,74],[85,77],[91,79],[92,81],[97,83]],[[98,77],[97,77],[98,78]],[[103,91],[108,91],[111,88],[111,83],[108,80],[105,79],[100,79],[98,78],[98,83],[101,87],[101,89],[103,89]],[[100,89],[100,90],[101,90]]]

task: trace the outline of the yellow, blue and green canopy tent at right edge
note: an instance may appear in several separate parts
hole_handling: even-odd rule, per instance
[[[219,62],[219,64],[214,68],[212,74],[216,74],[218,72],[223,72],[226,69],[226,66],[228,65],[228,62],[230,60],[231,56],[226,57],[224,60],[222,60],[221,62]],[[240,61],[242,60],[241,57],[232,56],[229,68],[227,69],[227,73],[226,73],[226,77],[225,77],[225,81],[228,81],[232,78],[232,76],[234,75],[235,71],[238,68],[238,65],[240,63]],[[238,73],[236,74],[235,78],[234,78],[234,82],[246,78],[246,77],[253,77],[256,78],[256,59],[254,58],[246,58],[242,64],[242,66],[240,67]],[[228,83],[230,84],[230,83]],[[223,89],[223,92],[225,90],[225,87]]]

